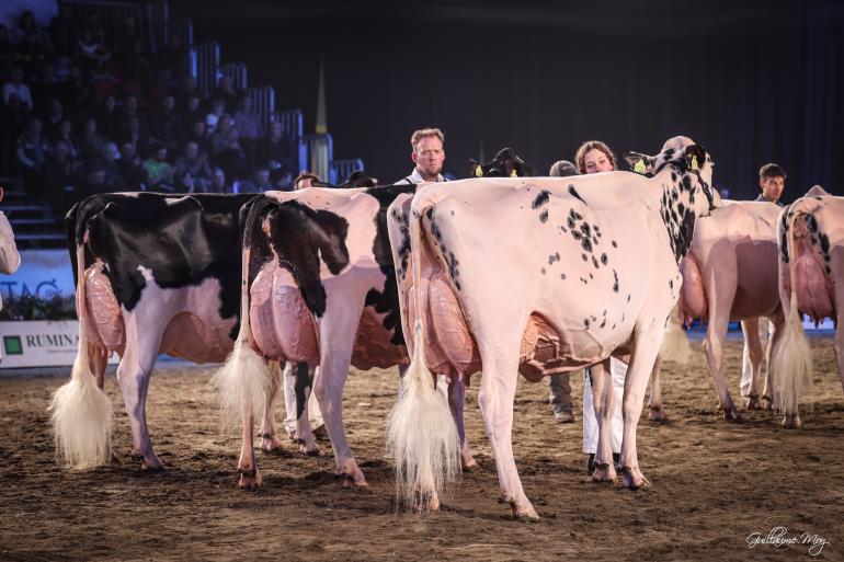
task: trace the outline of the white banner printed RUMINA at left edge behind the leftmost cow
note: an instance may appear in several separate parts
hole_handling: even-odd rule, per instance
[[[0,341],[3,356],[0,369],[71,366],[79,345],[79,322],[0,322]],[[109,363],[118,360],[115,353]]]

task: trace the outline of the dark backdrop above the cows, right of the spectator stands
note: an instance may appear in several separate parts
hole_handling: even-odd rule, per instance
[[[513,147],[540,173],[581,141],[654,153],[686,135],[733,198],[768,161],[785,202],[834,173],[844,150],[844,2],[173,2],[197,42],[244,61],[276,107],[316,119],[319,62],[335,158],[381,183],[412,170],[411,133],[446,134],[446,171]]]

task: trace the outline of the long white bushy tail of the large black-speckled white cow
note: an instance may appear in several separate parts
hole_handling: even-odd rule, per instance
[[[415,322],[410,367],[403,393],[390,413],[387,448],[396,463],[396,493],[400,502],[419,509],[436,509],[438,495],[459,475],[457,429],[445,397],[437,392],[434,376],[425,365],[426,308],[420,293],[421,252],[427,251],[421,236],[425,209],[411,206],[409,236],[413,267]]]

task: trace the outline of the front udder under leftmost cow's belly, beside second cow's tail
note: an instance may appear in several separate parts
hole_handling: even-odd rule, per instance
[[[224,340],[229,345],[224,345],[220,335],[197,316],[180,312],[168,323],[159,352],[193,363],[221,363],[231,352],[231,341],[225,335]]]

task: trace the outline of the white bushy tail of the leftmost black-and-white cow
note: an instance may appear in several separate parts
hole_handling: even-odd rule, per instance
[[[78,470],[107,462],[112,433],[112,403],[91,372],[88,357],[90,319],[84,263],[84,245],[76,244],[79,349],[70,371],[70,380],[56,390],[48,409],[56,441],[56,457],[62,464]]]

